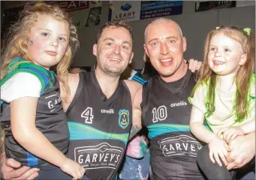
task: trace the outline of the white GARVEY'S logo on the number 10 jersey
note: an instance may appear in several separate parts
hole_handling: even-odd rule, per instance
[[[158,143],[164,156],[189,155],[197,157],[198,150],[203,147],[197,140],[187,135],[167,137],[164,140],[159,140]]]

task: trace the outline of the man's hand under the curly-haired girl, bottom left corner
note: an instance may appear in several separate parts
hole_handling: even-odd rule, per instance
[[[19,167],[19,162],[12,158],[6,159],[5,155],[1,156],[0,170],[3,179],[35,179],[38,176],[38,168]]]

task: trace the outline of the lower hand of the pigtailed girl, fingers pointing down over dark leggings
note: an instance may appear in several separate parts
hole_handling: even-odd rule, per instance
[[[225,156],[228,155],[228,151],[230,151],[230,149],[227,146],[227,143],[217,136],[209,142],[209,158],[211,159],[212,163],[215,163],[215,161],[217,161],[220,167],[222,166],[222,164],[219,157],[224,162],[224,164],[227,165],[227,160]]]

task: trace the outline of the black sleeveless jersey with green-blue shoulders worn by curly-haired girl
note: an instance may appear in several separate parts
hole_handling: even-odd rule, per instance
[[[19,72],[23,72],[23,67],[24,66],[18,69]],[[35,72],[40,74],[42,73],[40,69],[41,66],[37,67],[37,65],[32,64],[32,66],[30,66],[31,72],[28,73]],[[44,88],[44,91],[41,92],[41,96],[38,99],[35,125],[36,128],[38,128],[38,130],[41,131],[41,133],[44,134],[57,149],[59,149],[59,151],[65,154],[68,151],[69,132],[67,116],[62,109],[62,102],[60,99],[59,81],[53,72],[47,71],[46,69],[44,70],[49,73],[47,75],[49,83],[47,84],[47,87]],[[25,70],[24,72],[27,71]],[[44,84],[42,84],[42,86],[43,85]],[[14,140],[11,132],[11,106],[10,104],[3,102],[1,108],[1,125],[5,127],[6,157],[14,158],[24,166],[53,168],[47,161],[30,154],[26,149],[23,149],[16,140]],[[42,149],[42,151],[44,151],[44,149]]]

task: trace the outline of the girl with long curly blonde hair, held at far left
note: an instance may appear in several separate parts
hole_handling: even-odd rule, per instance
[[[6,157],[38,167],[38,179],[83,178],[83,167],[65,156],[69,132],[59,85],[68,99],[76,28],[62,9],[39,2],[26,5],[8,37],[1,66]]]

